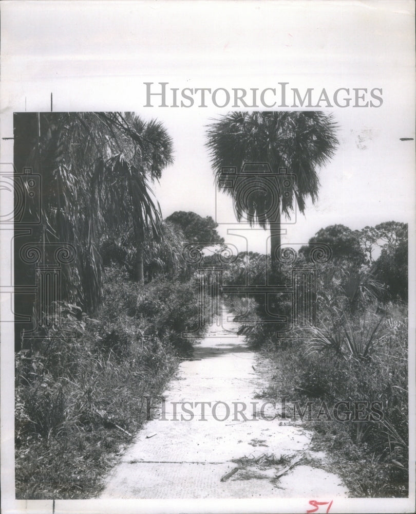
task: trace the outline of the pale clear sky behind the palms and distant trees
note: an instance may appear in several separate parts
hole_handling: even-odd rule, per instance
[[[219,113],[217,113],[218,116]],[[319,199],[308,201],[305,214],[299,212],[282,228],[287,234],[283,243],[305,244],[320,228],[343,224],[351,229],[374,226],[384,221],[411,223],[414,196],[409,185],[413,180],[413,145],[401,137],[414,137],[413,128],[401,117],[389,126],[370,113],[342,116],[334,113],[339,124],[338,149],[331,162],[320,169]],[[355,113],[354,113],[355,114]],[[358,113],[357,113],[358,114]],[[364,113],[363,113],[364,114]],[[226,242],[237,244],[227,234],[236,228],[232,199],[216,191],[210,158],[205,148],[208,117],[192,118],[176,125],[177,117],[161,117],[171,128],[175,146],[175,163],[164,171],[155,188],[164,216],[176,210],[191,210],[210,215],[219,223],[218,232]],[[243,228],[243,227],[241,227]],[[252,251],[263,252],[267,233],[247,230]]]

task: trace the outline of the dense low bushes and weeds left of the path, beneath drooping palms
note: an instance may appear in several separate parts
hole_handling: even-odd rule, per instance
[[[190,351],[197,288],[163,277],[144,289],[106,269],[98,319],[62,303],[61,324],[16,354],[16,498],[86,498]]]

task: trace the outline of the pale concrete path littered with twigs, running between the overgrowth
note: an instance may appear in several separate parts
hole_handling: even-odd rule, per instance
[[[308,453],[312,433],[289,420],[268,419],[276,414],[270,404],[260,412],[265,400],[256,393],[267,387],[266,379],[255,353],[236,335],[238,324],[226,320],[228,313],[223,317],[222,327],[214,324],[196,345],[193,360],[181,363],[164,405],[152,409],[153,419],[106,477],[101,498],[347,496],[336,475],[301,460],[276,478]],[[196,402],[210,403],[204,416]]]

